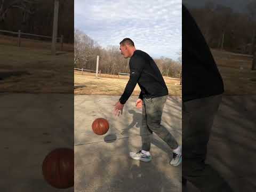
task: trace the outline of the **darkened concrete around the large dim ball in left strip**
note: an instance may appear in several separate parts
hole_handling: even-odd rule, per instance
[[[43,178],[45,156],[74,148],[73,94],[0,94],[0,191],[72,192]],[[70,117],[70,115],[72,115]]]

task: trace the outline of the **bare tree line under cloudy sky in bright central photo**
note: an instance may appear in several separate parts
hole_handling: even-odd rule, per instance
[[[79,29],[75,29],[74,34],[74,67],[95,70],[97,55],[99,55],[101,73],[111,75],[129,73],[129,59],[123,58],[123,55],[119,51],[119,46],[101,47]],[[162,75],[180,77],[181,50],[178,54],[178,61],[165,57],[154,59]]]

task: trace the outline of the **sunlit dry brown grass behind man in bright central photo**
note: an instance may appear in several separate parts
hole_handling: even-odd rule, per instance
[[[164,77],[170,95],[181,95],[179,79]],[[99,95],[122,95],[129,77],[117,75],[101,74],[100,78],[95,78],[95,74],[75,71],[75,94],[99,94]],[[176,84],[176,85],[175,85]],[[139,95],[138,84],[132,95]]]

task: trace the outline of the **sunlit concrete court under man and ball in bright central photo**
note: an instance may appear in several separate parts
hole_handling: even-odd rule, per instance
[[[170,148],[156,135],[152,161],[134,161],[130,151],[141,147],[141,109],[131,97],[122,116],[113,109],[120,96],[75,95],[75,191],[76,192],[174,192],[181,191],[181,166],[169,164]],[[92,132],[95,118],[106,118],[105,135]],[[167,99],[162,124],[181,143],[181,98]]]

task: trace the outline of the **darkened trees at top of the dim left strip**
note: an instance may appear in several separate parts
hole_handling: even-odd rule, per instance
[[[52,36],[53,11],[54,0],[0,0],[0,29]],[[74,42],[74,1],[59,1],[60,35],[65,43]]]

